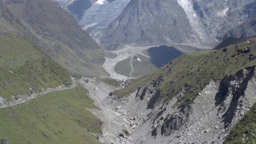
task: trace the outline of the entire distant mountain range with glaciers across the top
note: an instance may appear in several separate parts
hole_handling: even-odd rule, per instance
[[[209,44],[256,16],[254,0],[72,0],[64,9],[102,45]]]

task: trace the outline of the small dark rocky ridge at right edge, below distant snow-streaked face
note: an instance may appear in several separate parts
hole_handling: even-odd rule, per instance
[[[256,17],[229,30],[223,37],[220,38],[225,39],[226,37],[235,37],[237,39],[241,39],[251,36],[256,36]]]

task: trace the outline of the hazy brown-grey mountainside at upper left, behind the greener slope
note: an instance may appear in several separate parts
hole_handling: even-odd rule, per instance
[[[108,76],[103,49],[53,0],[0,1],[0,33],[16,33],[73,75]]]

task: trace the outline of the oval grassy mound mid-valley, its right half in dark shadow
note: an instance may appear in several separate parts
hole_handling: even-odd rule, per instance
[[[141,77],[161,68],[171,60],[183,54],[183,52],[172,46],[152,47],[145,50],[143,53],[146,56],[141,54],[134,55],[140,58],[141,62],[138,62],[134,57],[128,57],[118,62],[115,65],[115,72],[128,77]],[[131,69],[131,64],[133,69]]]

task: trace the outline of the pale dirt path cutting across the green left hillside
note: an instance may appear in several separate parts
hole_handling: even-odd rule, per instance
[[[56,91],[61,91],[61,90],[65,90],[65,89],[71,89],[71,88],[75,88],[77,86],[77,82],[75,80],[75,78],[72,78],[72,85],[69,85],[69,86],[65,86],[65,85],[59,85],[58,87],[56,88],[47,88],[44,92],[40,92],[40,93],[33,93],[32,95],[30,95],[29,97],[25,97],[25,98],[20,98],[14,102],[11,102],[10,104],[8,105],[1,105],[0,106],[0,109],[1,108],[7,108],[7,107],[11,107],[11,106],[14,106],[14,105],[19,105],[19,104],[22,104],[22,103],[25,103],[27,101],[29,101],[30,99],[33,99],[33,98],[36,98],[37,95],[44,95],[44,94],[47,94],[49,92],[56,92]]]

